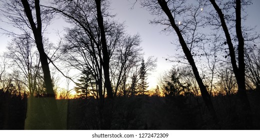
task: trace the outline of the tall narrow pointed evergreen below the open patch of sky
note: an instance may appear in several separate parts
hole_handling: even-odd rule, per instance
[[[148,82],[147,80],[147,72],[146,72],[146,64],[144,63],[144,59],[142,58],[141,61],[141,67],[140,67],[140,71],[139,71],[139,84],[138,84],[138,92],[141,95],[144,95],[145,92],[147,92],[147,87],[148,87]]]

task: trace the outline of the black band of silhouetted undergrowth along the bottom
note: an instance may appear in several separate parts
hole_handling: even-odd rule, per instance
[[[68,99],[65,129],[260,129],[259,91],[248,91],[251,126],[239,115],[236,95],[211,98],[219,119],[218,126],[210,119],[202,98],[177,95],[105,99],[102,117],[98,100]],[[0,129],[24,129],[26,103],[26,97],[0,92]]]

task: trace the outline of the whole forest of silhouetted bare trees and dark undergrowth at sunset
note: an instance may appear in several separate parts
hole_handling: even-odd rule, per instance
[[[176,37],[154,88],[148,77],[164,65],[144,57],[142,36],[110,0],[0,0],[11,27],[0,26],[11,37],[0,53],[0,129],[260,129],[251,0],[128,1]],[[46,28],[57,19],[69,27],[54,43]]]

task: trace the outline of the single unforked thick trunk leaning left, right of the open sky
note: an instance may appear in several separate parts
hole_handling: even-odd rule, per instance
[[[169,21],[170,21],[170,24],[172,26],[172,28],[175,30],[175,32],[177,33],[178,35],[178,38],[179,38],[179,43],[182,47],[182,50],[190,64],[190,66],[192,67],[192,71],[193,71],[193,74],[196,78],[196,81],[198,83],[198,86],[200,88],[200,92],[201,92],[201,96],[205,102],[205,105],[207,106],[207,109],[210,113],[210,115],[212,116],[213,118],[213,121],[215,124],[218,123],[218,119],[217,119],[217,116],[216,116],[216,113],[215,113],[215,109],[213,107],[213,104],[212,104],[212,101],[211,101],[211,98],[210,98],[210,95],[209,93],[207,92],[206,90],[206,87],[205,85],[203,84],[203,81],[202,79],[200,78],[199,76],[199,73],[198,73],[198,70],[197,70],[197,67],[196,67],[196,64],[194,62],[194,59],[192,57],[192,54],[191,52],[189,51],[186,43],[185,43],[185,40],[179,30],[179,28],[177,27],[177,25],[175,24],[174,22],[174,17],[172,16],[168,6],[167,6],[167,2],[165,0],[158,0],[158,3],[161,7],[161,9],[165,12],[165,14],[167,15],[167,17],[169,18]]]

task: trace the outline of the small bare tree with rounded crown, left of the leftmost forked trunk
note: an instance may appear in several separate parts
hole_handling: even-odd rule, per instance
[[[33,50],[33,42],[28,36],[18,36],[7,46],[8,51],[6,57],[13,62],[14,65],[24,75],[20,80],[27,86],[28,93],[32,97],[37,90],[37,78],[40,72],[40,60],[38,53]]]

